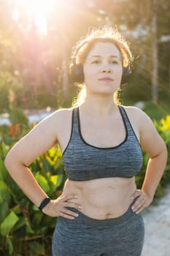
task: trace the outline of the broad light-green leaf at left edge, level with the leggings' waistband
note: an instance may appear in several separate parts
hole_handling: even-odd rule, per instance
[[[8,236],[12,228],[18,222],[18,216],[12,211],[1,223],[1,235]]]

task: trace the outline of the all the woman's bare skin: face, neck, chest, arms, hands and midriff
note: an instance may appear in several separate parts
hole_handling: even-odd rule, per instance
[[[83,71],[87,97],[80,106],[82,137],[90,145],[100,148],[117,146],[125,139],[123,120],[112,100],[123,72],[119,50],[110,42],[96,42],[83,64]],[[131,207],[136,214],[150,205],[166,166],[166,146],[142,110],[134,107],[125,107],[125,110],[136,137],[150,157],[142,189],[136,189],[134,178],[67,179],[62,195],[50,200],[43,208],[45,214],[74,219],[78,214],[66,209],[72,207],[94,219],[107,219],[121,216],[135,198]],[[28,166],[55,143],[59,143],[64,151],[71,129],[72,108],[58,110],[34,127],[7,154],[7,170],[36,206],[47,195],[36,183]]]

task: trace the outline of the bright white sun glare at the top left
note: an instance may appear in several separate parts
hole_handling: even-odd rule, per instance
[[[18,6],[26,10],[28,18],[34,18],[34,22],[40,34],[47,34],[47,15],[53,10],[54,1],[56,0],[15,0]],[[15,15],[14,18],[18,17]]]

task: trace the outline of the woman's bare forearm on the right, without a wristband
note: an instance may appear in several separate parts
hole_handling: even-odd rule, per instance
[[[156,157],[150,158],[147,164],[147,170],[142,184],[142,191],[153,197],[155,190],[163,176],[166,167],[167,151],[166,148]]]

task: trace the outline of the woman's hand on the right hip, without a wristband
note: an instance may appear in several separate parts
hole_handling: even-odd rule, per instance
[[[136,199],[134,204],[131,206],[132,211],[134,211],[136,214],[139,214],[144,210],[144,208],[152,203],[153,197],[140,189],[136,189],[134,194],[131,195],[131,199]]]

